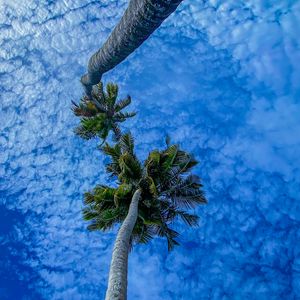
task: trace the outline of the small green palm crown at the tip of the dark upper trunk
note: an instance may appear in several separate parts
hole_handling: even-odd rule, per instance
[[[82,97],[79,104],[72,102],[74,114],[80,117],[80,125],[75,129],[75,133],[87,140],[99,137],[104,143],[112,130],[115,139],[118,140],[121,137],[118,123],[135,116],[136,113],[122,112],[131,103],[130,96],[120,101],[117,101],[117,97],[116,84],[107,84],[104,92],[100,82],[94,87],[91,97]]]

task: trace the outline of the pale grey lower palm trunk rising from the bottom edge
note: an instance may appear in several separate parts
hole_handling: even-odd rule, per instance
[[[130,236],[137,220],[140,196],[141,191],[137,190],[132,197],[128,214],[117,234],[105,300],[127,299],[127,266]]]

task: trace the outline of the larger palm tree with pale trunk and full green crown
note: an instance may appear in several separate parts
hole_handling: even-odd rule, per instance
[[[111,159],[107,172],[118,187],[96,186],[85,193],[84,219],[90,230],[108,230],[122,223],[113,249],[106,300],[126,299],[128,254],[134,243],[165,237],[168,249],[178,245],[179,233],[170,226],[179,217],[196,226],[198,216],[188,212],[206,203],[199,177],[191,175],[197,161],[178,145],[152,151],[142,164],[134,153],[130,133],[102,151]]]

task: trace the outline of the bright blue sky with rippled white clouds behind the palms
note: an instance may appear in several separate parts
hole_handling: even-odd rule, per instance
[[[110,181],[70,107],[126,6],[0,1],[1,300],[104,297],[117,228],[88,232],[81,209]],[[300,299],[299,32],[297,0],[186,0],[103,77],[132,97],[138,156],[169,134],[208,198],[180,247],[134,248],[129,299]]]

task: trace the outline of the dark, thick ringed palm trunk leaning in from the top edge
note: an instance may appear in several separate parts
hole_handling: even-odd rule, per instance
[[[122,19],[105,44],[90,58],[82,76],[87,95],[102,74],[122,62],[138,48],[183,0],[130,0]]]

